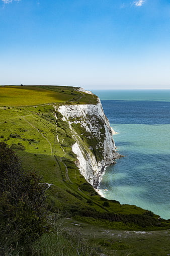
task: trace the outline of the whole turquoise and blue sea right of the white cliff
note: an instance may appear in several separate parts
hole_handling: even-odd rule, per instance
[[[124,158],[106,167],[100,194],[170,219],[170,90],[92,90]]]

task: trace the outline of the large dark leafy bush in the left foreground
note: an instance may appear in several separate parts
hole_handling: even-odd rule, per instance
[[[45,186],[34,171],[24,171],[15,152],[0,143],[0,254],[27,246],[44,231]]]

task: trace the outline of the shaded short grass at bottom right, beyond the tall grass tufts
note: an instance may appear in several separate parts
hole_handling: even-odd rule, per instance
[[[65,229],[80,231],[81,237],[88,238],[91,246],[100,248],[106,255],[165,256],[170,251],[170,230],[121,231],[73,219],[64,219],[63,223]]]

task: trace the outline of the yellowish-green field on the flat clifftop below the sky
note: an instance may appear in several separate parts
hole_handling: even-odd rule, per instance
[[[34,106],[63,103],[96,104],[97,96],[67,86],[0,86],[0,106]]]

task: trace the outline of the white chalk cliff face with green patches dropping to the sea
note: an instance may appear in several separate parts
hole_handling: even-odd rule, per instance
[[[84,178],[96,187],[104,167],[113,165],[120,156],[100,99],[97,105],[62,105],[58,111],[63,121],[68,122],[76,141],[72,146],[77,156],[76,165]]]

